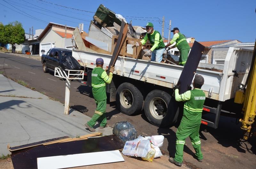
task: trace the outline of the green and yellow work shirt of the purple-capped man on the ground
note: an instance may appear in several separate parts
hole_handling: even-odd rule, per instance
[[[107,75],[106,71],[101,67],[95,67],[92,70],[92,95],[95,100],[107,99],[106,83],[110,84],[112,77],[112,72],[109,72],[109,75]]]

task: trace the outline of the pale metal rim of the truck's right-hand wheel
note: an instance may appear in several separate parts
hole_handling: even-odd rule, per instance
[[[167,114],[167,104],[164,99],[155,97],[149,103],[149,111],[155,119],[161,120]]]

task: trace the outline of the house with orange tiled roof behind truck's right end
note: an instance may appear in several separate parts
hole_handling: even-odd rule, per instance
[[[205,46],[204,52],[203,52],[203,56],[201,58],[200,62],[203,63],[211,63],[211,64],[218,64],[220,63],[220,60],[216,60],[216,57],[214,57],[215,54],[218,55],[219,48],[221,48],[222,46],[227,46],[227,45],[231,45],[231,44],[237,44],[237,43],[241,43],[239,40],[214,40],[214,41],[201,41],[199,42],[200,44]],[[193,46],[193,42],[192,43],[188,43],[190,48],[192,48]],[[213,48],[214,47],[214,48]],[[214,60],[215,58],[215,60]],[[221,59],[221,63],[222,63]],[[225,60],[225,58],[224,58]]]

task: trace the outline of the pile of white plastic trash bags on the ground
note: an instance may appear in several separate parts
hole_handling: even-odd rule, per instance
[[[159,149],[163,145],[164,136],[139,136],[125,142],[122,153],[125,156],[141,157],[143,160],[152,162],[154,158],[162,156]]]

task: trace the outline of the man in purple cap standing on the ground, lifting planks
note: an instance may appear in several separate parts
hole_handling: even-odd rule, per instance
[[[114,67],[110,67],[109,75],[107,75],[106,71],[102,69],[103,64],[103,59],[97,58],[96,67],[92,70],[92,95],[97,108],[92,119],[84,124],[91,132],[95,132],[93,127],[97,121],[100,121],[100,129],[103,129],[107,125],[107,118],[105,115],[107,107],[106,83],[111,83]]]

